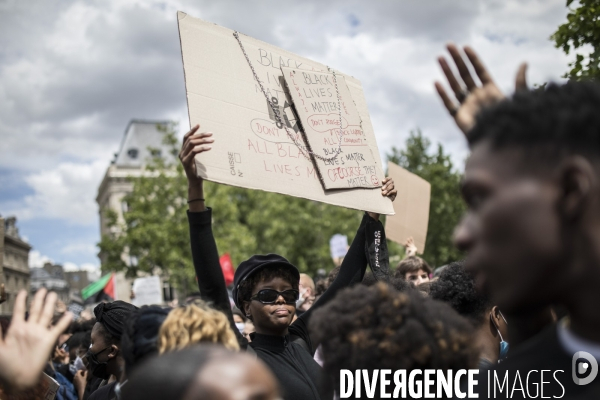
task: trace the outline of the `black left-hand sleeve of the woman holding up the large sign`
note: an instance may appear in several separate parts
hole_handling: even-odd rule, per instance
[[[212,233],[212,209],[207,208],[202,212],[188,211],[187,215],[190,224],[192,258],[200,295],[212,307],[225,313],[240,347],[246,348],[248,341],[235,326],[231,312],[225,278],[219,262],[217,243]]]

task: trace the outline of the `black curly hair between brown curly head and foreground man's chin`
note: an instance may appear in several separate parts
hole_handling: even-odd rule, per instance
[[[461,262],[449,264],[438,280],[431,284],[429,296],[443,301],[475,325],[481,325],[492,304],[487,296],[477,292],[475,280]]]

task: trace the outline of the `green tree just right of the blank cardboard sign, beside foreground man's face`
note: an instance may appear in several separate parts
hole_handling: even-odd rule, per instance
[[[429,225],[423,258],[434,267],[459,260],[464,255],[452,244],[454,227],[465,206],[459,191],[461,174],[454,170],[450,156],[441,144],[430,153],[431,142],[420,130],[411,131],[406,148],[392,147],[387,160],[419,175],[431,184]]]

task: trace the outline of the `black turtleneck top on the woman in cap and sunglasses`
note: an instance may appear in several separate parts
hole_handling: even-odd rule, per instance
[[[229,295],[219,263],[219,253],[212,234],[212,210],[189,212],[190,239],[194,269],[202,298],[213,307],[223,311],[233,329],[240,347],[247,349],[248,341],[240,334],[233,321]],[[314,348],[308,332],[308,323],[314,310],[322,307],[342,288],[353,282],[360,282],[367,266],[365,251],[367,224],[381,223],[371,219],[366,213],[352,241],[352,245],[342,262],[340,272],[331,286],[315,304],[303,313],[292,325],[286,336],[252,334],[250,346],[277,380],[285,400],[319,400],[319,378],[321,367],[313,359]]]

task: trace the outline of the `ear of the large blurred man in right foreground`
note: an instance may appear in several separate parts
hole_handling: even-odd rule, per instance
[[[568,221],[580,218],[586,205],[592,201],[596,184],[594,168],[581,156],[569,157],[559,168],[559,210]]]

